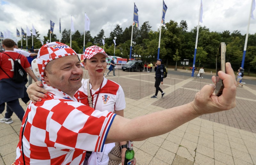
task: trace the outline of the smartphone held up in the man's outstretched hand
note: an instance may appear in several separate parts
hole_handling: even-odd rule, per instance
[[[216,96],[220,96],[224,89],[224,84],[220,79],[218,72],[221,70],[222,72],[226,73],[226,44],[225,42],[220,43],[219,50],[216,55],[216,89],[215,94]]]

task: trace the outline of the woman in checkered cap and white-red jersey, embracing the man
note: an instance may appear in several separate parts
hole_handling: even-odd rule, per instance
[[[117,115],[124,117],[124,108],[126,103],[122,87],[119,84],[108,80],[103,76],[107,68],[107,57],[108,55],[100,47],[91,46],[85,49],[84,61],[82,61],[82,63],[84,64],[85,68],[85,76],[87,76],[86,72],[88,71],[89,77],[86,77],[88,79],[82,80],[82,86],[76,92],[74,97],[76,97],[79,102],[91,106],[96,110],[111,111],[116,113]],[[33,102],[40,101],[40,98],[38,97],[44,97],[44,95],[40,92],[47,92],[43,89],[40,89],[40,92],[36,91],[38,89],[37,85],[41,86],[40,84],[41,82],[36,82],[28,87],[28,95]],[[33,94],[35,94],[37,97]],[[119,142],[119,144],[123,147],[121,151],[122,164],[124,164],[126,141]],[[88,160],[88,164],[96,164],[96,160],[93,160],[93,157],[95,158],[96,156],[98,156],[98,158],[100,157],[102,161],[104,159],[108,159],[107,155],[114,147],[115,143],[110,143],[105,145],[104,153],[92,153]],[[100,162],[99,159],[98,161]],[[108,164],[113,164],[113,162],[111,161],[112,160],[110,160]]]

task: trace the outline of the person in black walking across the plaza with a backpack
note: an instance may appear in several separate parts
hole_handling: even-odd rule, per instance
[[[163,81],[164,81],[164,65],[162,64],[162,60],[158,59],[156,61],[156,66],[155,66],[155,72],[156,72],[156,82],[155,82],[155,87],[156,87],[156,93],[154,96],[152,96],[151,98],[157,98],[157,93],[158,90],[162,93],[162,97],[164,97],[165,93],[163,92],[163,90],[161,90],[161,88],[159,88],[160,83],[163,85]],[[150,64],[149,64],[150,65]]]

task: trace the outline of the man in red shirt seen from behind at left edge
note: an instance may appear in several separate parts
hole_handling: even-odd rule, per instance
[[[7,105],[5,116],[0,119],[0,122],[11,124],[13,122],[11,118],[13,112],[18,116],[20,121],[22,121],[25,111],[20,105],[19,98],[25,96],[25,84],[28,82],[28,79],[22,83],[12,81],[14,75],[14,60],[19,59],[21,66],[35,81],[36,76],[30,70],[30,65],[26,57],[13,50],[15,42],[12,39],[4,39],[2,43],[5,51],[0,54],[0,113],[3,113],[5,103]]]

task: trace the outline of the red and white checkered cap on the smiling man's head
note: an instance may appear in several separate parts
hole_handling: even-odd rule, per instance
[[[61,42],[51,42],[44,44],[37,54],[37,66],[40,73],[40,78],[44,82],[44,68],[49,61],[54,59],[65,57],[68,55],[77,55],[76,52],[66,44]]]

